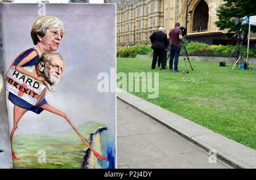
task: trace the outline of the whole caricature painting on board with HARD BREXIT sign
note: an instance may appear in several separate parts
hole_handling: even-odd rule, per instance
[[[115,5],[1,12],[13,166],[115,168]]]

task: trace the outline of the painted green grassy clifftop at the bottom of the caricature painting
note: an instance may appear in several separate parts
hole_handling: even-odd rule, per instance
[[[101,123],[87,122],[77,128],[89,142],[89,136]],[[15,155],[21,160],[13,160],[14,167],[28,168],[81,168],[88,148],[75,131],[71,130],[55,136],[15,135],[13,138]],[[46,152],[46,162],[42,162],[42,150]],[[40,163],[41,162],[41,163]]]

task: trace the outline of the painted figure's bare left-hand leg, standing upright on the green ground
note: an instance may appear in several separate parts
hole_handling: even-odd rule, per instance
[[[10,136],[10,140],[12,142],[13,140],[13,135],[14,132],[16,130],[16,128],[18,127],[18,122],[19,119],[27,112],[27,109],[24,108],[20,108],[19,106],[14,105],[14,109],[13,109],[13,117],[14,117],[14,121],[13,121],[13,130],[11,130],[11,136]],[[12,144],[12,143],[11,143]],[[13,158],[15,160],[20,160],[20,158],[17,158],[15,156],[15,153],[13,151],[13,146],[11,145],[11,156],[13,156]]]

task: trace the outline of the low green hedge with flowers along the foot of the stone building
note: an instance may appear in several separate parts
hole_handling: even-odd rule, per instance
[[[201,42],[188,42],[185,41],[185,47],[187,49],[188,55],[192,56],[213,56],[213,57],[229,57],[233,45],[208,45]],[[170,46],[168,47],[170,49]],[[138,54],[148,54],[151,53],[151,45],[135,45],[128,46],[117,50],[117,57],[135,57]],[[168,53],[169,54],[169,53]],[[243,55],[246,56],[247,47],[243,46]],[[237,51],[232,54],[232,57],[236,57]],[[249,48],[249,57],[256,57],[256,50]]]

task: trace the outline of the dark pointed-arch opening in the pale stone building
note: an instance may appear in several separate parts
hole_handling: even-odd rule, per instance
[[[193,32],[205,31],[208,28],[209,8],[205,1],[200,1],[193,13]]]

